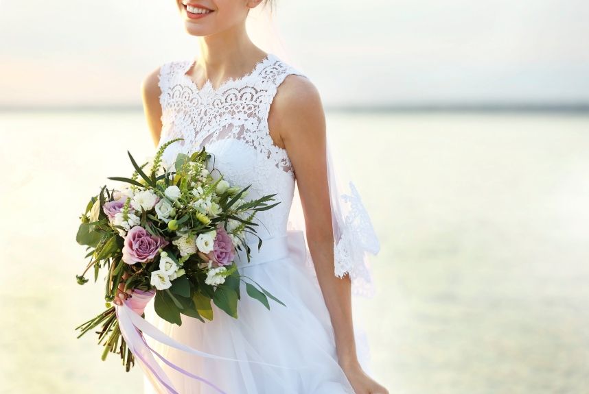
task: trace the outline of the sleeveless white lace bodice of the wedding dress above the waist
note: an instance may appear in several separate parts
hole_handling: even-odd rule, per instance
[[[251,184],[247,199],[277,194],[278,206],[256,214],[257,235],[265,239],[286,234],[295,173],[286,150],[270,137],[268,112],[286,76],[303,73],[268,53],[243,77],[228,79],[218,88],[207,80],[198,88],[186,75],[193,64],[194,60],[179,60],[160,68],[163,127],[159,145],[184,138],[170,145],[163,159],[172,162],[179,152],[206,147],[225,180],[240,187]],[[246,234],[246,240],[257,238]]]

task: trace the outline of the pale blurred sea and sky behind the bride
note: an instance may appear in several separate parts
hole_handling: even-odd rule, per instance
[[[275,18],[332,140],[365,153],[348,167],[382,245],[377,295],[354,301],[373,377],[588,393],[589,3],[279,1]],[[75,235],[126,150],[152,153],[141,81],[198,40],[171,0],[0,0],[0,35],[0,393],[140,393],[139,368],[76,339],[104,304],[100,280],[76,284]]]

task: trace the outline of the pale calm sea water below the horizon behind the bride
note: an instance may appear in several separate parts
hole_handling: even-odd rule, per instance
[[[354,301],[400,394],[589,391],[589,116],[327,112],[380,238]],[[90,195],[153,153],[139,111],[0,113],[0,393],[140,393],[76,284]],[[89,275],[91,277],[92,275]],[[301,338],[303,341],[304,338]]]

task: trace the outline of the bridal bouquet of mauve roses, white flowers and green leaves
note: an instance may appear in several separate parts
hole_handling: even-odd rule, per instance
[[[257,236],[255,214],[277,206],[273,195],[247,200],[247,189],[232,185],[218,171],[207,168],[211,154],[203,148],[187,156],[178,153],[174,163],[163,162],[170,140],[151,162],[139,166],[128,153],[135,172],[131,177],[109,177],[124,182],[119,190],[103,186],[91,197],[78,229],[76,241],[86,245],[90,258],[79,284],[93,268],[94,282],[100,269],[106,271],[106,310],[78,326],[80,336],[97,328],[98,343],[104,345],[102,360],[109,352],[120,354],[126,371],[135,365],[111,305],[119,285],[132,289],[138,315],[144,316],[154,297],[154,310],[170,323],[182,324],[182,315],[203,321],[213,319],[213,304],[237,318],[240,282],[246,293],[270,309],[268,298],[284,305],[257,282],[241,275],[236,258],[251,248],[245,234]],[[262,238],[257,243],[262,247]],[[138,305],[138,306],[137,306]]]

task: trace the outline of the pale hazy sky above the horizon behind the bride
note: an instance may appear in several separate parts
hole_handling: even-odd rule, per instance
[[[586,0],[277,5],[325,106],[589,102]],[[150,71],[198,56],[173,0],[0,0],[0,36],[0,106],[140,106]]]

